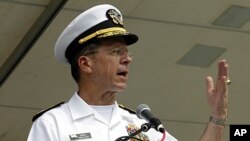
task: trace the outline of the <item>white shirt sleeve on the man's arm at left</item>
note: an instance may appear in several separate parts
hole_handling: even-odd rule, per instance
[[[56,127],[49,121],[38,118],[31,127],[27,141],[59,141]]]

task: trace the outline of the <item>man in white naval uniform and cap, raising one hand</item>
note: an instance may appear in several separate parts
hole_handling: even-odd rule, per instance
[[[137,35],[126,31],[114,6],[98,5],[76,17],[58,38],[55,56],[71,65],[78,91],[67,103],[38,114],[28,141],[115,141],[137,131],[146,121],[116,103],[116,94],[126,88],[132,62],[127,46],[137,40]],[[201,141],[222,139],[227,117],[227,68],[221,60],[216,85],[210,76],[206,78],[212,113]],[[167,131],[163,135],[150,129],[133,140],[176,141]]]

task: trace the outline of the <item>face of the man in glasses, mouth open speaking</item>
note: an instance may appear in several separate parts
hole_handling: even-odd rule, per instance
[[[126,88],[132,58],[123,40],[105,40],[93,57],[92,78],[107,91],[119,92]]]

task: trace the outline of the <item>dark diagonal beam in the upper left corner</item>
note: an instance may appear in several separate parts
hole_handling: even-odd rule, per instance
[[[0,87],[33,47],[68,0],[51,0],[46,9],[0,68]]]

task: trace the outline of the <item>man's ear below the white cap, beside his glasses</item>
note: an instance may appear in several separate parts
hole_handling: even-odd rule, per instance
[[[80,71],[84,71],[85,73],[91,73],[92,69],[92,60],[87,56],[80,56],[78,58],[78,66]]]

